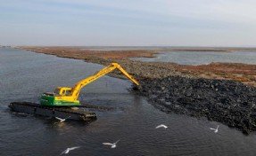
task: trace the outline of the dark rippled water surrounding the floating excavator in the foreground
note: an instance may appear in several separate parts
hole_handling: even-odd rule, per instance
[[[67,147],[81,146],[70,155],[255,155],[256,135],[204,119],[162,113],[144,97],[130,93],[131,82],[109,76],[87,85],[80,100],[117,107],[96,111],[88,124],[12,113],[12,101],[38,102],[55,86],[73,86],[103,66],[82,60],[0,49],[0,155],[60,155]],[[154,129],[159,124],[168,129]],[[219,133],[209,128],[219,125]],[[111,149],[103,142],[121,139]]]

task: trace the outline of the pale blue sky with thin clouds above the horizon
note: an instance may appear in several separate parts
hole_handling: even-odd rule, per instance
[[[0,45],[254,46],[254,0],[0,0]]]

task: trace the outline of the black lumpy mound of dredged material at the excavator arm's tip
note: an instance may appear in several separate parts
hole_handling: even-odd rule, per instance
[[[144,80],[137,91],[164,112],[206,117],[244,134],[256,131],[256,88],[240,82],[171,76]]]

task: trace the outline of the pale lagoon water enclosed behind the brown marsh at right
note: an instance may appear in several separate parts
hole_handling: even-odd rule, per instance
[[[202,65],[211,62],[233,62],[256,64],[256,51],[212,52],[212,51],[165,51],[156,58],[131,58],[145,62],[173,62],[180,65]]]

